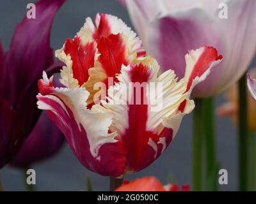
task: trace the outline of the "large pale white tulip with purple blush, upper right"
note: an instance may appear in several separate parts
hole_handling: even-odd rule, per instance
[[[184,77],[184,55],[202,46],[216,47],[223,62],[196,86],[193,96],[224,91],[244,74],[256,48],[255,0],[120,0],[147,52],[162,68]],[[224,4],[225,2],[225,4]]]

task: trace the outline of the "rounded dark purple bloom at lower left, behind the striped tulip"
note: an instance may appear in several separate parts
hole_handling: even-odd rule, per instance
[[[12,161],[13,166],[26,168],[31,164],[42,161],[60,150],[64,136],[61,131],[42,113],[35,128],[26,138],[22,147]]]

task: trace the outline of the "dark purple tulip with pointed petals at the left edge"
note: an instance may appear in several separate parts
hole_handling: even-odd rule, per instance
[[[52,21],[63,2],[38,1],[36,19],[24,17],[17,25],[7,53],[0,42],[0,168],[17,154],[40,115],[36,82],[42,71],[60,69],[49,44]]]

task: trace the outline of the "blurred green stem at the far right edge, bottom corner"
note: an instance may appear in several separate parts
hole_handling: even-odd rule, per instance
[[[248,191],[256,191],[256,133],[248,137]]]

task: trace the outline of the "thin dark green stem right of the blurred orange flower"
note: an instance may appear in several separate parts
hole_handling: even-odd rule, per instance
[[[247,95],[246,75],[239,80],[239,190],[247,190]]]

